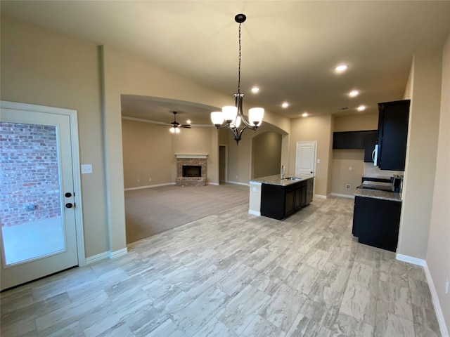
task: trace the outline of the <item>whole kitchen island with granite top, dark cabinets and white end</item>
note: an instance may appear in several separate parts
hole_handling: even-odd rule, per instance
[[[277,174],[250,180],[249,213],[281,220],[307,206],[313,197],[314,176]]]

